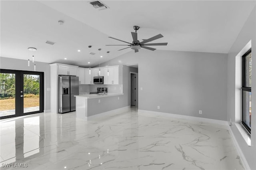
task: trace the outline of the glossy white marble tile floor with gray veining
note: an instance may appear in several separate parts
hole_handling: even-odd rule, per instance
[[[1,166],[26,170],[244,169],[227,127],[134,108],[91,121],[39,113],[4,119],[0,130]]]

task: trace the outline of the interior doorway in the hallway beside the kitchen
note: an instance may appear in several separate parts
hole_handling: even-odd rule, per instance
[[[138,73],[130,72],[130,105],[138,108]]]

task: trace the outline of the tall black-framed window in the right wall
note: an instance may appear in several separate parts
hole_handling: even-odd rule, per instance
[[[242,125],[251,133],[252,50],[242,55]]]

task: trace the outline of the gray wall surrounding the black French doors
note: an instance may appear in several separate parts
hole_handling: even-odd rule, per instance
[[[36,71],[44,72],[44,110],[50,111],[50,65],[49,63],[35,62]],[[26,70],[34,71],[34,64],[30,62],[28,67],[28,61],[24,59],[14,59],[7,57],[0,57],[0,68],[1,69],[13,69],[13,70]]]

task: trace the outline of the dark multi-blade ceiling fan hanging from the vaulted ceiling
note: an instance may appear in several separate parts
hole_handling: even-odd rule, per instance
[[[112,38],[114,40],[118,40],[118,41],[121,41],[121,42],[128,43],[129,47],[126,47],[126,48],[134,49],[135,52],[139,52],[140,48],[149,49],[149,50],[152,50],[152,51],[156,50],[155,48],[147,47],[147,46],[150,46],[150,45],[167,45],[167,43],[147,43],[147,42],[151,42],[153,40],[157,40],[158,38],[164,37],[164,36],[162,36],[162,34],[158,34],[158,35],[156,35],[154,37],[151,37],[147,40],[143,40],[142,42],[139,42],[139,40],[137,38],[137,30],[139,28],[140,28],[139,26],[133,26],[133,29],[135,30],[135,32],[131,32],[132,33],[132,39],[133,39],[132,43],[125,42],[123,40],[118,40],[118,39],[113,38],[113,37],[108,37],[108,38]],[[123,48],[123,49],[126,49],[126,48]],[[123,49],[119,49],[118,51],[123,50]]]

